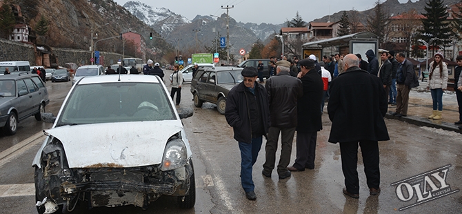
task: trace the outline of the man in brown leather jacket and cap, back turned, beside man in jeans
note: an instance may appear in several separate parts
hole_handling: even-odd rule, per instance
[[[270,101],[271,126],[266,141],[266,162],[263,164],[263,175],[271,177],[276,161],[276,151],[281,133],[281,157],[277,166],[279,179],[290,177],[287,166],[290,163],[292,141],[297,127],[297,99],[303,95],[303,86],[300,79],[291,77],[290,62],[281,60],[276,63],[277,75],[266,81]]]

